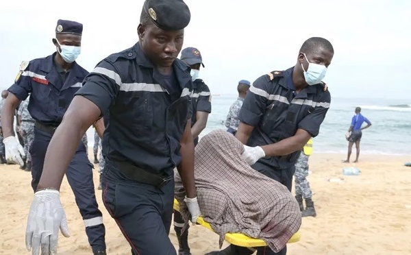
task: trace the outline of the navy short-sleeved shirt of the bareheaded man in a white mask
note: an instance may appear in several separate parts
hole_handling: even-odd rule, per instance
[[[295,93],[293,68],[262,75],[249,89],[238,119],[254,127],[247,145],[262,146],[294,136],[298,129],[312,137],[319,134],[320,125],[331,103],[325,84],[307,86]],[[300,151],[287,156],[262,158],[259,162],[273,168],[287,168],[295,163]]]

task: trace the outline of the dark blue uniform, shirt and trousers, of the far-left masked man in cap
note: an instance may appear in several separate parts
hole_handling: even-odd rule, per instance
[[[47,147],[55,128],[62,121],[74,94],[82,87],[88,71],[73,62],[71,70],[63,73],[55,62],[55,54],[29,62],[21,70],[21,77],[8,90],[20,100],[30,94],[28,110],[36,121],[34,141],[29,148],[32,155],[32,188],[37,189]],[[105,250],[105,228],[95,197],[92,164],[86,156],[86,147],[80,142],[71,160],[66,177],[75,195],[75,202],[86,226],[88,242],[93,251]]]

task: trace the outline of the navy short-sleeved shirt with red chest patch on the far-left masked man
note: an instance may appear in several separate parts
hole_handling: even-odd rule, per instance
[[[57,127],[88,71],[73,62],[63,81],[58,71],[61,68],[54,60],[55,54],[31,60],[20,70],[21,76],[8,90],[21,101],[30,94],[28,110],[33,119]]]

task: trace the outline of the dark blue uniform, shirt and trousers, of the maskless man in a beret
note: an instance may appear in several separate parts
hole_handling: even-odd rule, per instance
[[[102,140],[103,202],[133,254],[175,254],[169,239],[173,169],[190,110],[188,66],[162,75],[139,43],[97,64],[77,95],[96,104],[107,127]]]

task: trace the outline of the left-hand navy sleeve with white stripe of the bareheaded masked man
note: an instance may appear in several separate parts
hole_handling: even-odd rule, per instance
[[[238,114],[238,119],[242,123],[253,127],[258,125],[266,111],[266,102],[269,98],[269,84],[268,75],[263,75],[253,82]]]

